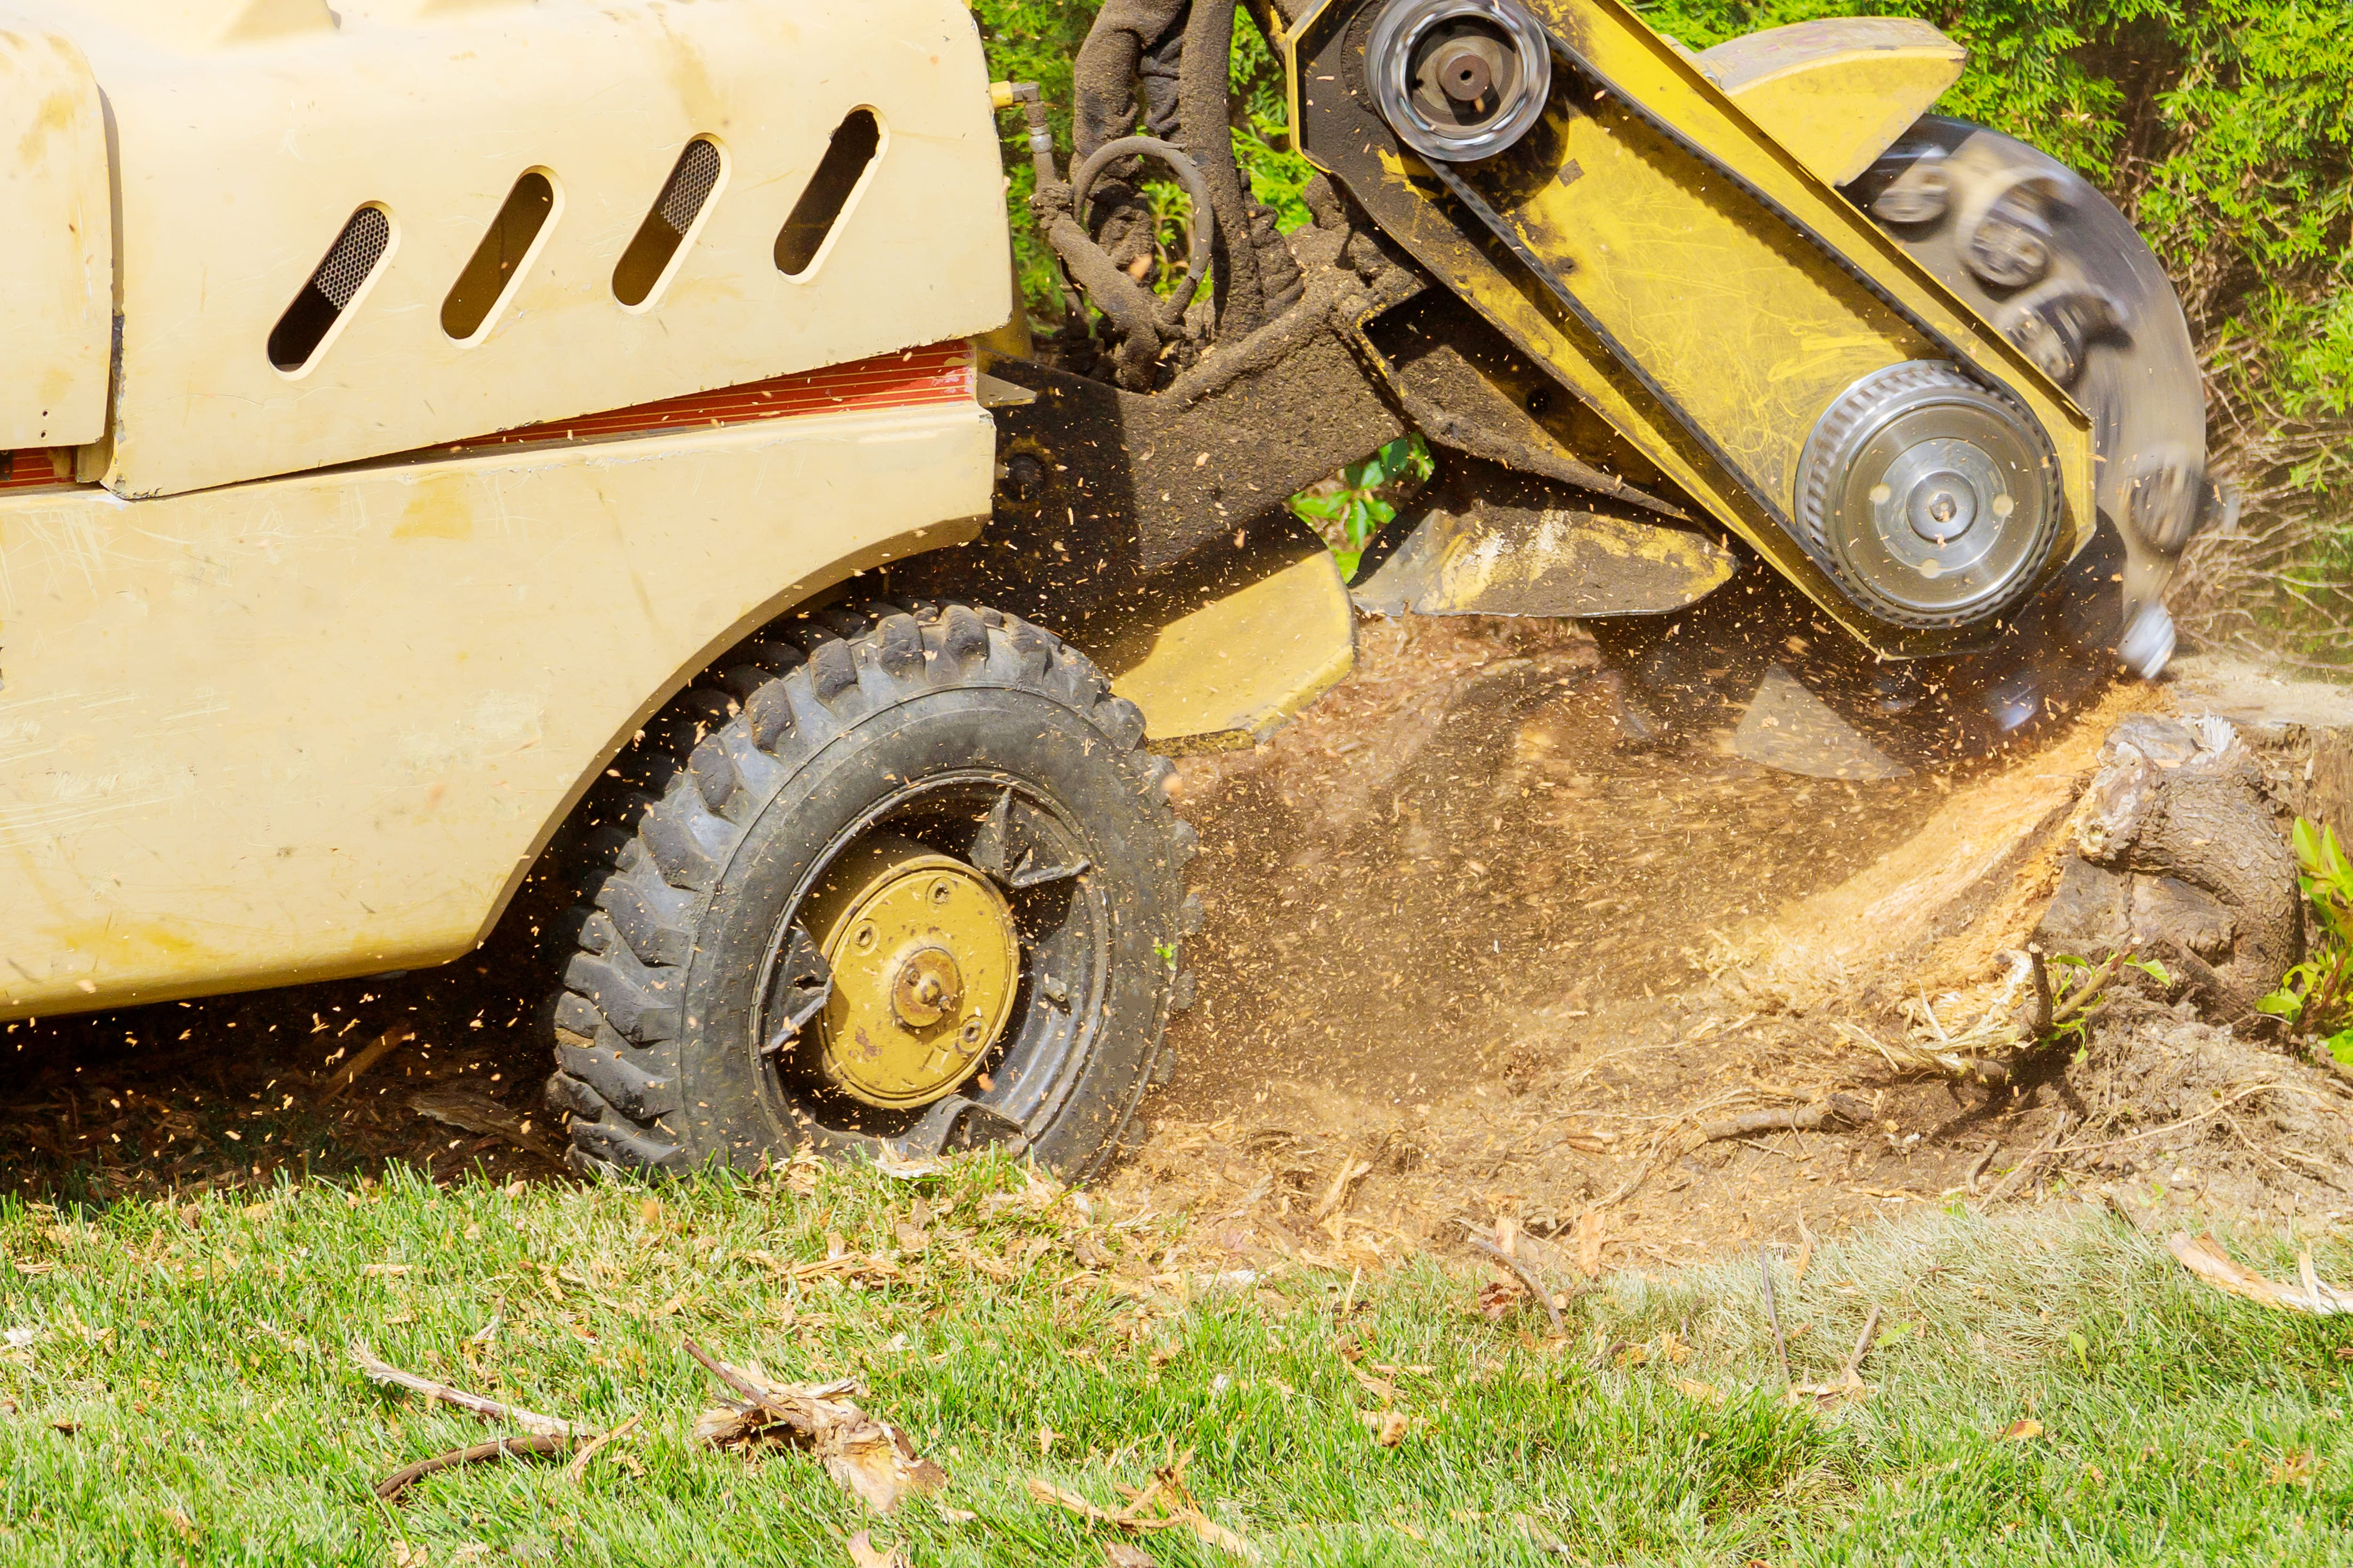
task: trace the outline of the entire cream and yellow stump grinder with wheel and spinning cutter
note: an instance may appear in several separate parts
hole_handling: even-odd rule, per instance
[[[504,919],[581,1168],[1087,1175],[1191,994],[1162,757],[1358,614],[1845,776],[2165,665],[2181,310],[1932,28],[1249,0],[1285,235],[1235,5],[1108,0],[1064,158],[960,0],[0,0],[0,1018]],[[1351,595],[1285,501],[1407,433]]]

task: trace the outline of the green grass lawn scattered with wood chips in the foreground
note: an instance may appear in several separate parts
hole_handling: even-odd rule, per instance
[[[2294,1269],[2285,1237],[2233,1246]],[[988,1161],[9,1204],[0,1251],[9,1563],[849,1563],[871,1528],[918,1568],[1096,1566],[1120,1535],[1026,1483],[1115,1509],[1179,1453],[1266,1563],[2353,1561],[2353,1328],[2217,1295],[2078,1208],[1824,1246],[1802,1281],[1781,1260],[1793,1380],[1828,1382],[1882,1312],[1875,1392],[1831,1408],[1784,1401],[1753,1255],[1612,1276],[1562,1345],[1532,1302],[1480,1316],[1468,1269],[1235,1279],[1179,1220]],[[2353,1274],[2353,1248],[2318,1262]],[[355,1335],[642,1422],[576,1483],[480,1465],[379,1505],[384,1474],[487,1427],[369,1385]],[[699,1448],[718,1389],[682,1335],[861,1378],[946,1490],[873,1519],[800,1453]],[[1233,1561],[1186,1530],[1134,1544]]]

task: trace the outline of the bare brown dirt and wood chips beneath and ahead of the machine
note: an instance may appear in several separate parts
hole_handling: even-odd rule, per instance
[[[2101,738],[2172,703],[2122,686],[1967,769],[1805,780],[1720,736],[1631,745],[1574,628],[1367,623],[1358,675],[1301,722],[1181,764],[1200,1001],[1111,1194],[1186,1208],[1245,1260],[1377,1265],[1504,1222],[1581,1272],[1802,1246],[1995,1187],[2341,1218],[2353,1086],[2148,980],[2014,1086],[1871,1044],[1991,1001]],[[2332,745],[2266,736],[2280,795],[2329,788]],[[0,1192],[108,1201],[391,1161],[572,1180],[518,1147],[555,1131],[529,924],[407,978],[7,1025]],[[336,1091],[372,1041],[388,1048]],[[504,1131],[412,1107],[464,1117],[452,1091],[504,1103]],[[1859,1124],[1699,1135],[1831,1095]]]

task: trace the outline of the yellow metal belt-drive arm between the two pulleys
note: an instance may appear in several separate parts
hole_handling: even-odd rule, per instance
[[[1501,242],[1485,242],[1461,197],[1348,87],[1372,9],[1320,5],[1289,28],[1301,150],[1859,639],[1920,656],[1986,635],[1864,616],[1786,522],[1807,437],[1873,371],[1958,357],[2007,388],[2057,449],[2064,520],[2045,581],[2089,541],[2082,409],[1831,183],[1953,80],[1953,45],[1918,24],[1845,26],[1741,40],[1711,61],[1617,0],[1525,0],[1607,87],[1555,92],[1511,158],[1452,176],[1492,212]],[[1520,261],[1558,277],[1584,320]]]

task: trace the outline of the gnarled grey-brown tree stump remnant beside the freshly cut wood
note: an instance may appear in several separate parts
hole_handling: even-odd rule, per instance
[[[2304,957],[2297,860],[2228,722],[2118,724],[2068,837],[2035,929],[2045,954],[2158,959],[2224,1020],[2252,1013]]]

